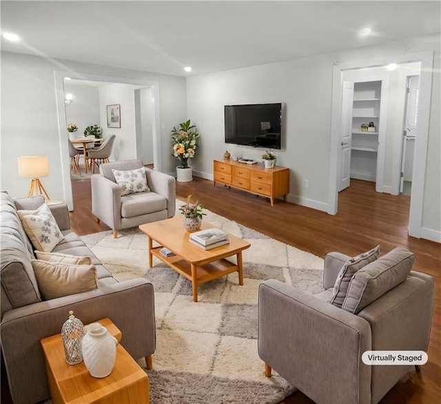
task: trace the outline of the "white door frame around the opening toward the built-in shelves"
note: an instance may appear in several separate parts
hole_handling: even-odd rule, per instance
[[[342,118],[342,72],[344,70],[377,67],[389,63],[420,62],[420,100],[418,114],[418,138],[415,144],[415,162],[413,165],[411,207],[409,212],[409,235],[421,237],[422,208],[426,180],[427,145],[429,141],[429,116],[431,107],[431,86],[433,71],[433,51],[418,52],[397,56],[382,56],[337,63],[334,65],[331,108],[331,156],[329,161],[329,199],[327,213],[336,215],[338,211],[338,148],[340,146]]]

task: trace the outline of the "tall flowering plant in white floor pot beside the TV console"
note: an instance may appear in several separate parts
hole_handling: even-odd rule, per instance
[[[189,182],[193,180],[192,167],[189,166],[189,159],[194,158],[198,147],[199,134],[196,125],[192,125],[190,120],[179,124],[172,130],[173,156],[179,159],[176,167],[176,180],[178,182]]]

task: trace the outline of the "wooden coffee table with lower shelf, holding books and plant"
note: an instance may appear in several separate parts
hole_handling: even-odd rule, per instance
[[[229,236],[229,244],[203,250],[188,241],[189,232],[184,228],[184,217],[175,216],[171,219],[159,220],[147,224],[141,224],[140,230],[148,237],[149,266],[153,266],[153,255],[162,262],[176,270],[192,282],[193,300],[198,301],[198,285],[212,281],[229,273],[238,273],[239,285],[243,285],[242,251],[251,244],[232,234]],[[202,221],[201,229],[214,228],[205,220]],[[153,248],[153,241],[161,244]],[[168,248],[175,253],[172,257],[165,257],[159,251]],[[237,264],[232,263],[227,257],[236,255]]]

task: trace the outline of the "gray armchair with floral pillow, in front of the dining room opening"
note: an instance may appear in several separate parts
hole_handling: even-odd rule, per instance
[[[143,167],[141,160],[101,164],[91,177],[92,214],[112,228],[116,238],[123,228],[173,217],[176,205],[176,180],[160,171],[145,169],[149,192],[121,195],[112,169],[127,171]]]

